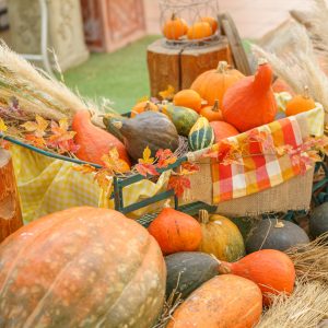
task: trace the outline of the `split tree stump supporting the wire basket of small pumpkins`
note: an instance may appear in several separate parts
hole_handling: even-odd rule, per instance
[[[220,60],[232,63],[227,39],[211,47],[172,49],[159,39],[148,47],[148,69],[150,74],[151,95],[171,84],[175,91],[190,87],[194,80],[202,72],[218,67]]]

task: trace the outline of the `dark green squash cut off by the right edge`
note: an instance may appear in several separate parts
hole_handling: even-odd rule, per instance
[[[317,238],[328,232],[328,202],[324,202],[313,210],[309,215],[309,234]],[[327,236],[328,243],[328,236]]]

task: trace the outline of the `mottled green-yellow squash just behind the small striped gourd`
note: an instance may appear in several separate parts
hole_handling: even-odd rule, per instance
[[[191,128],[199,118],[199,115],[195,110],[187,107],[174,106],[173,104],[163,106],[161,112],[172,120],[178,133],[185,137],[188,137]]]

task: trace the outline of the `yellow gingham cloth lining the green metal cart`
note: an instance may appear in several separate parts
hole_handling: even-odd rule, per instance
[[[75,164],[54,160],[22,147],[12,145],[17,187],[25,222],[42,215],[77,206],[114,208],[114,200],[104,195],[94,174],[73,169]],[[124,188],[124,204],[129,206],[166,190],[171,172],[161,175],[157,183],[141,180]],[[153,212],[162,203],[151,204],[129,214],[139,218]]]

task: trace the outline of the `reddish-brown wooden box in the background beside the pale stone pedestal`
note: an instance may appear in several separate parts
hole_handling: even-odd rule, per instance
[[[112,52],[145,35],[142,0],[81,0],[85,42]]]

